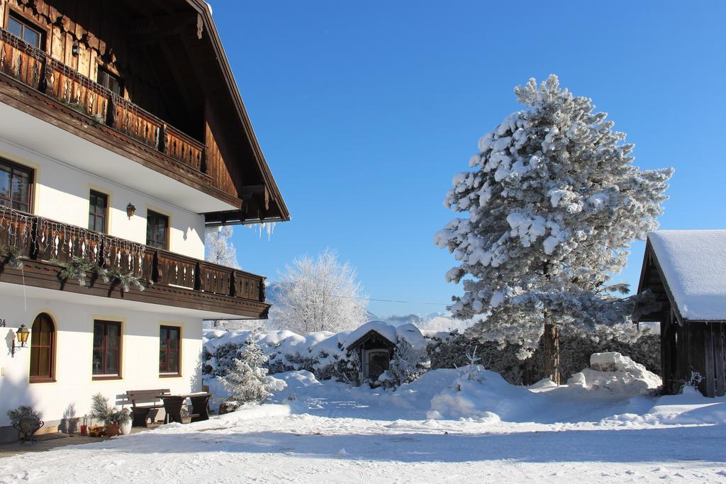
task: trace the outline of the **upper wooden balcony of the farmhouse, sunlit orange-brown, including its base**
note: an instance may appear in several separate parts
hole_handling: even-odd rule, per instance
[[[8,83],[0,83],[0,102],[230,205],[241,205],[239,198],[216,186],[207,173],[202,142],[3,29],[0,81]]]

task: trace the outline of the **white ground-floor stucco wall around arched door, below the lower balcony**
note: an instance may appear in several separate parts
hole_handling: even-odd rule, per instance
[[[90,298],[89,298],[90,299]],[[20,324],[30,328],[38,313],[52,316],[56,328],[55,382],[29,383],[30,348],[10,355],[12,335]],[[110,403],[126,390],[169,388],[172,393],[201,390],[202,321],[161,313],[126,311],[78,305],[57,300],[27,299],[0,294],[0,427],[9,425],[5,412],[30,405],[46,421],[76,417],[90,410],[91,395],[102,393]],[[92,380],[91,355],[94,319],[121,321],[120,380]],[[181,327],[181,377],[159,376],[159,327]]]

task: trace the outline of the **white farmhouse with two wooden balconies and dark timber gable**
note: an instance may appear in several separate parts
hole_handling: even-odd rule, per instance
[[[0,0],[0,27],[0,441],[20,405],[200,390],[203,319],[269,308],[205,229],[290,218],[208,6]]]

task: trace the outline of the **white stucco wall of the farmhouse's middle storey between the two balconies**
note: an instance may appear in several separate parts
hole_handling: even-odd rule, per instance
[[[133,179],[126,186],[115,184],[3,139],[0,139],[0,157],[35,171],[35,215],[87,227],[89,192],[94,189],[108,195],[108,234],[146,243],[147,210],[153,210],[169,217],[171,252],[204,258],[204,216],[137,192]],[[130,220],[126,216],[129,203],[136,207],[136,215]]]

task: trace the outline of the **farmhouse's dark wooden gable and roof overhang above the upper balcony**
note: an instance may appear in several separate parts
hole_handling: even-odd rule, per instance
[[[37,25],[46,36],[43,50],[85,83],[95,83],[101,71],[121,79],[121,97],[158,118],[156,128],[168,124],[180,131],[165,152],[180,151],[177,157],[184,158],[189,144],[198,146],[192,169],[220,200],[234,200],[234,210],[205,214],[210,225],[290,219],[204,1],[0,4],[0,17],[9,12]]]

